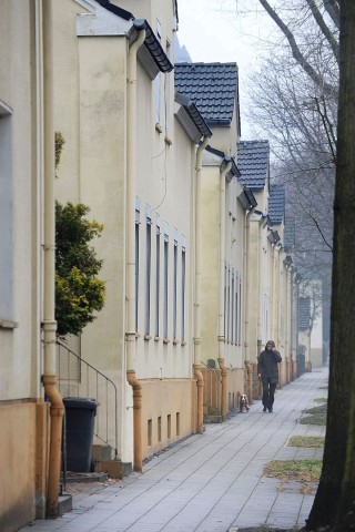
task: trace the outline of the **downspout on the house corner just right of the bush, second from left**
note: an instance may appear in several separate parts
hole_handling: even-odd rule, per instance
[[[135,375],[135,245],[134,198],[136,156],[136,53],[145,40],[145,31],[139,29],[138,39],[129,50],[128,64],[128,163],[126,163],[126,380],[133,391],[133,468],[142,471],[142,386]]]

